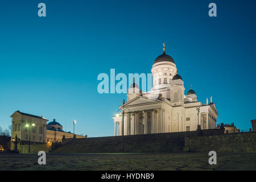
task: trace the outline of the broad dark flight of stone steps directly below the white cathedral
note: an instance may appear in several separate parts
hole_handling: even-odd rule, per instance
[[[177,133],[126,135],[123,137],[69,139],[66,143],[63,143],[63,146],[54,147],[52,152],[182,152],[185,137],[218,134],[224,134],[224,131],[221,129],[213,129]]]

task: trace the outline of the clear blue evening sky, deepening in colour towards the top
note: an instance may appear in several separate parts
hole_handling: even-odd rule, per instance
[[[46,3],[47,17],[38,16]],[[217,5],[217,17],[208,5]],[[213,96],[217,123],[255,119],[256,1],[1,1],[0,126],[16,110],[89,137],[114,134],[126,94],[99,94],[100,73],[151,73],[166,53],[185,93]],[[143,90],[144,91],[144,90]],[[65,129],[67,125],[67,129]]]

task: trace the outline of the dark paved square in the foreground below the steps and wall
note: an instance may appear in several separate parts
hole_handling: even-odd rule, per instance
[[[170,154],[0,154],[0,170],[256,170],[256,153],[218,153],[210,166],[206,153]]]

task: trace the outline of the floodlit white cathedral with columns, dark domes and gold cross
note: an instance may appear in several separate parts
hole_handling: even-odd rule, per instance
[[[151,72],[151,91],[142,93],[134,82],[128,89],[127,102],[119,106],[125,111],[124,117],[122,113],[112,117],[115,136],[195,131],[199,125],[202,130],[216,128],[218,113],[212,97],[210,103],[207,98],[203,104],[192,88],[184,94],[184,82],[165,48]]]

